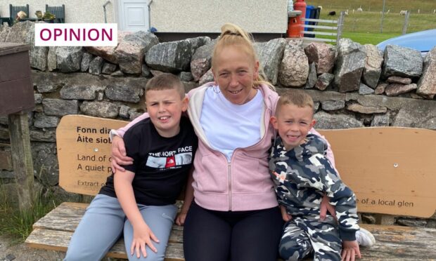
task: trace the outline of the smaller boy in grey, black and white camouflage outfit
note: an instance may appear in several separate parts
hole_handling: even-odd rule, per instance
[[[274,180],[284,226],[279,252],[285,260],[300,260],[314,251],[314,260],[354,260],[361,257],[356,241],[354,193],[324,156],[326,142],[308,134],[314,126],[314,102],[304,91],[281,95],[271,123],[278,137],[269,169]],[[335,217],[320,220],[324,194],[336,208]],[[372,235],[371,235],[372,236]],[[342,249],[343,247],[343,249]]]

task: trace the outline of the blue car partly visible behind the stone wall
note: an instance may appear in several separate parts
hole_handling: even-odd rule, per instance
[[[377,47],[381,51],[384,51],[388,44],[416,49],[421,52],[421,55],[425,56],[433,47],[436,46],[436,29],[413,32],[387,39],[386,41],[377,44]]]

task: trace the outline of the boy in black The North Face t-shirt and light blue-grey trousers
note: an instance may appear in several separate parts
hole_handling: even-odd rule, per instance
[[[108,178],[86,209],[65,260],[101,260],[123,230],[129,260],[164,260],[177,215],[174,203],[187,178],[186,189],[192,189],[190,170],[198,140],[190,121],[181,116],[188,98],[177,76],[155,76],[145,97],[150,117],[124,134],[127,156],[134,163]],[[185,200],[178,220],[184,220],[191,200]]]

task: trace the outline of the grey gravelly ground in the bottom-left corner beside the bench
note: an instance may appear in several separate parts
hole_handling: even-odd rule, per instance
[[[65,253],[28,248],[25,243],[11,245],[11,240],[0,235],[0,261],[60,261]]]

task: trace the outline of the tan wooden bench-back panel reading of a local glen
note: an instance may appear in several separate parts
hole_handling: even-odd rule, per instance
[[[358,212],[430,217],[436,210],[436,131],[420,128],[320,130]]]

